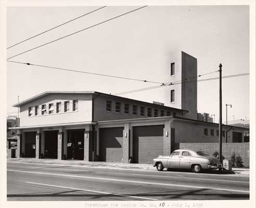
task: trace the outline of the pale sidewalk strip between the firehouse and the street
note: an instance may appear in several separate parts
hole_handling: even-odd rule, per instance
[[[8,158],[7,162],[34,163],[48,165],[70,165],[70,166],[88,166],[97,168],[111,168],[116,170],[136,170],[136,171],[157,171],[152,164],[138,163],[117,163],[117,162],[85,162],[83,160],[57,160],[57,159],[35,159],[35,158]],[[175,170],[179,172],[180,170]],[[232,171],[211,171],[211,174],[250,177],[249,168],[232,168]]]

